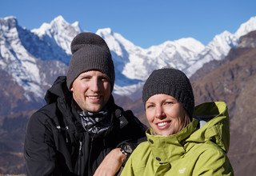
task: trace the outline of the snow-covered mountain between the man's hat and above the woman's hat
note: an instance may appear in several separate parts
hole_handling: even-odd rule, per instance
[[[134,93],[141,88],[152,70],[166,65],[183,70],[205,48],[194,38],[182,38],[142,49],[109,28],[98,30],[96,34],[106,40],[113,54],[117,72],[114,93],[131,97],[138,97]]]

